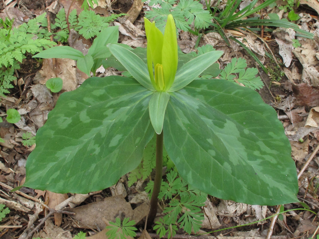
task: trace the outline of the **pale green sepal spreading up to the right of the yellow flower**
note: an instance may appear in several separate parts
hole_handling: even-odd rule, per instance
[[[211,66],[215,61],[221,57],[222,51],[211,51],[185,63],[176,72],[175,80],[169,92],[174,92],[182,89],[192,82],[200,73]]]

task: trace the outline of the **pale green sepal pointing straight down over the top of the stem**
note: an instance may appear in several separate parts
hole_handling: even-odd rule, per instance
[[[165,110],[168,101],[169,94],[167,92],[154,92],[150,100],[150,119],[157,134],[160,134],[163,129]]]

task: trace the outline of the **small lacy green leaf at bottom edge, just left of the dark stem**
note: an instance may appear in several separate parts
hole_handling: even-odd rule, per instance
[[[109,222],[111,226],[107,226],[107,229],[110,229],[107,231],[106,236],[108,236],[109,239],[126,239],[126,237],[136,237],[137,229],[134,226],[136,223],[135,221],[129,221],[130,218],[125,218],[123,220],[123,223],[121,224],[121,219],[116,218],[116,222]]]

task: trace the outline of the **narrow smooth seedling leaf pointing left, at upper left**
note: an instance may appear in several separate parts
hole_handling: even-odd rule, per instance
[[[70,46],[55,46],[40,53],[32,56],[32,57],[39,57],[39,58],[69,58],[72,60],[79,60],[83,58],[84,55],[81,51],[76,50]]]

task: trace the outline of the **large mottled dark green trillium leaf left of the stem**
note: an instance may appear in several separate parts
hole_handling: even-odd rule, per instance
[[[23,186],[88,193],[114,185],[136,168],[154,135],[152,92],[132,78],[87,79],[63,93],[36,134]]]

